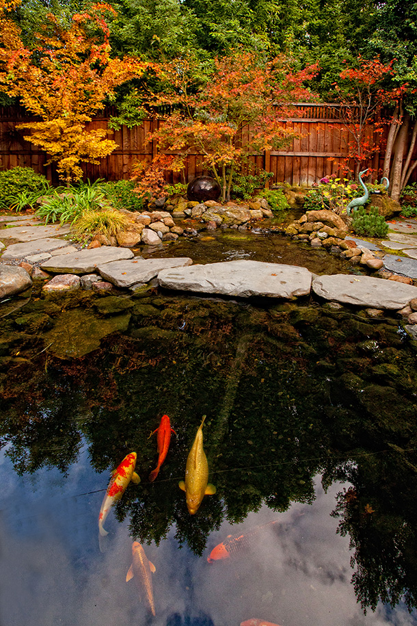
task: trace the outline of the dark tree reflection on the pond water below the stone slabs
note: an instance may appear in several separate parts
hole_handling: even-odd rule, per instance
[[[100,313],[97,300],[82,298],[98,317],[124,315],[104,298]],[[62,309],[68,323],[79,302],[28,302],[3,318],[0,434],[16,471],[66,473],[83,441],[97,472],[135,451],[142,483],[126,490],[117,519],[129,520],[132,538],[157,545],[175,526],[196,555],[225,520],[241,522],[262,504],[283,512],[312,503],[317,473],[325,488],[349,481],[334,515],[351,540],[358,601],[364,610],[379,600],[415,607],[416,344],[399,322],[308,300],[134,303],[128,330],[81,358],[44,350],[45,324],[59,324]],[[151,484],[157,450],[148,435],[163,413],[178,436]],[[178,480],[204,414],[217,495],[191,517]],[[183,621],[175,614],[168,624]]]

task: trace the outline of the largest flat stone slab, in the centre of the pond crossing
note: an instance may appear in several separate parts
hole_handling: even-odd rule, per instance
[[[306,268],[261,261],[224,261],[162,270],[158,283],[168,289],[225,296],[270,296],[291,299],[310,293],[312,274]]]

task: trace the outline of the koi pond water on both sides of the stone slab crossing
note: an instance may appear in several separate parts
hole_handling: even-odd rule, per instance
[[[228,233],[145,254],[360,271]],[[34,287],[0,316],[1,626],[417,624],[417,343],[395,315]],[[203,415],[216,493],[190,514]]]

